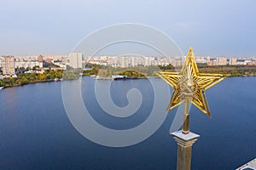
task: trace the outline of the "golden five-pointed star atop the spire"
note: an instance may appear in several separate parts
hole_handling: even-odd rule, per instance
[[[172,110],[177,105],[183,104],[185,99],[189,99],[193,105],[210,117],[205,91],[224,80],[224,78],[229,77],[222,74],[199,73],[192,48],[189,48],[181,72],[160,71],[156,74],[173,88],[172,97],[166,111]]]

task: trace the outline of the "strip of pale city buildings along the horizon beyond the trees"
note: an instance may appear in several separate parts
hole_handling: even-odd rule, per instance
[[[13,66],[10,66],[9,59]],[[235,58],[235,57],[211,57],[211,56],[195,56],[196,63],[212,65],[256,65],[256,57],[253,58]],[[71,53],[67,55],[31,55],[31,56],[0,56],[0,68],[5,75],[15,74],[15,68],[29,68],[38,67],[43,69],[44,62],[52,63],[55,66],[63,69],[67,65],[77,69],[86,68],[87,64],[108,65],[111,67],[137,67],[149,65],[173,65],[174,67],[182,65],[183,57],[163,57],[163,56],[140,56],[136,54],[126,54],[121,56],[84,56],[82,53]],[[9,66],[8,66],[9,65]],[[44,69],[43,69],[44,70]],[[4,73],[11,71],[12,73]]]

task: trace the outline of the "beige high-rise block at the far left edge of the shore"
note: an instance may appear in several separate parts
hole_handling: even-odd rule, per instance
[[[2,56],[1,66],[4,76],[14,76],[15,56]]]

